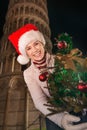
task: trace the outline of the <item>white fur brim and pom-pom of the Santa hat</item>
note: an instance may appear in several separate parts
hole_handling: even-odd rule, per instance
[[[29,62],[29,58],[26,55],[25,47],[32,41],[40,41],[45,45],[45,39],[41,32],[39,31],[27,31],[25,32],[18,40],[18,49],[21,55],[18,56],[17,61],[21,64],[27,64]]]

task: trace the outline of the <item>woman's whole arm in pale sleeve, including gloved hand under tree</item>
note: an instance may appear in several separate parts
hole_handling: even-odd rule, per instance
[[[31,94],[35,107],[45,116],[50,114],[50,111],[48,110],[48,106],[44,105],[47,104],[47,97],[44,94],[41,87],[38,85],[37,81],[34,78],[27,78],[25,74],[24,74],[24,79],[28,86],[28,90]],[[57,124],[60,127],[63,127],[66,130],[87,129],[87,123],[74,125],[73,122],[78,122],[80,118],[70,115],[69,113],[61,112],[47,117],[55,124]]]

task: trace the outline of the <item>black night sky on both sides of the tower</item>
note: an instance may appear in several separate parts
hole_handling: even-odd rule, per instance
[[[5,22],[7,3],[9,0],[0,0],[0,37]],[[48,16],[51,28],[51,39],[66,32],[74,41],[74,46],[85,53],[87,50],[87,7],[85,0],[47,0]]]

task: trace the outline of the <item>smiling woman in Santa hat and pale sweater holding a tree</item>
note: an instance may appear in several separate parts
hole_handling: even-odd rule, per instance
[[[17,61],[27,64],[29,59],[31,65],[24,71],[24,80],[31,94],[35,107],[45,116],[50,113],[48,110],[47,97],[50,96],[46,79],[41,81],[40,74],[46,67],[54,66],[54,56],[45,49],[46,41],[43,34],[33,24],[27,24],[13,32],[8,39],[12,42],[19,56]],[[45,75],[53,70],[45,72]],[[87,130],[87,123],[74,125],[73,122],[80,121],[79,117],[68,112],[61,112],[46,117],[47,130]]]

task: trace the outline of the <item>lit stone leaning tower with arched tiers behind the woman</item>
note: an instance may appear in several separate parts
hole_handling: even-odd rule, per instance
[[[8,35],[26,23],[34,23],[45,36],[51,52],[51,31],[46,0],[9,0],[0,40],[0,130],[39,130],[41,113],[33,105],[23,80],[23,70]],[[39,118],[40,117],[40,118]]]

